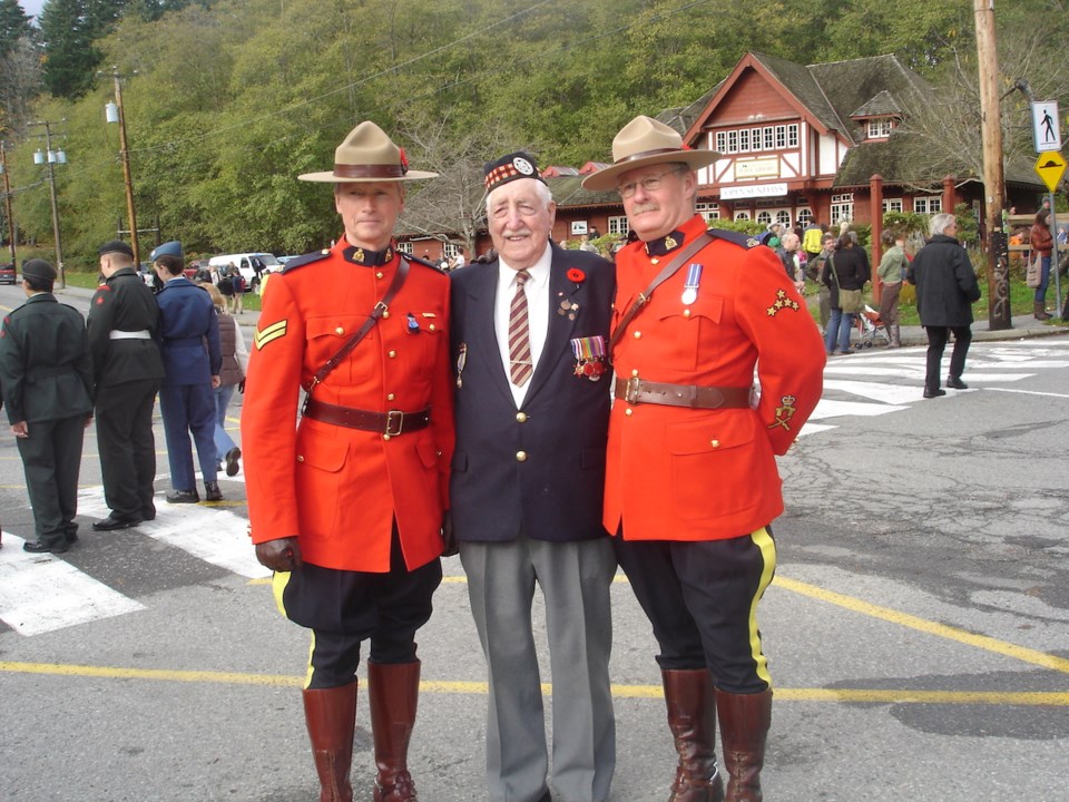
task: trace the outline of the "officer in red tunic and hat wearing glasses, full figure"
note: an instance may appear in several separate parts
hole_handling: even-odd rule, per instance
[[[614,164],[583,180],[619,190],[638,235],[616,260],[605,525],[660,648],[673,802],[762,799],[772,684],[755,610],[776,566],[775,454],[816,405],[824,368],[775,254],[695,214],[694,170],[717,157],[640,116],[614,139]]]

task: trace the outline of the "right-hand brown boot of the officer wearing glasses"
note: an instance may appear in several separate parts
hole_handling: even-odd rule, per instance
[[[772,689],[759,694],[716,692],[724,740],[727,802],[762,802],[761,767],[765,764],[765,740],[772,724]]]

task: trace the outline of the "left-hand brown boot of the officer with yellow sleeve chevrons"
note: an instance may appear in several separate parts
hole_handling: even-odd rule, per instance
[[[356,728],[356,683],[305,691],[304,717],[320,775],[320,802],[353,802],[349,770]]]

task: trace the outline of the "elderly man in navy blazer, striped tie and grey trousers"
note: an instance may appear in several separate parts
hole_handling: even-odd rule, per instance
[[[550,242],[556,204],[533,159],[487,165],[498,258],[453,273],[457,450],[453,535],[486,653],[492,802],[549,802],[531,627],[546,603],[553,686],[553,785],[605,802],[616,766],[609,587],[601,526],[609,414],[612,265]]]

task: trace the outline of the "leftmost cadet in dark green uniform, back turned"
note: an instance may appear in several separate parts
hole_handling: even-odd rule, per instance
[[[62,554],[78,539],[78,470],[92,420],[92,363],[78,310],[52,295],[56,270],[22,266],[27,302],[0,327],[3,405],[18,438],[37,541],[27,551]]]

